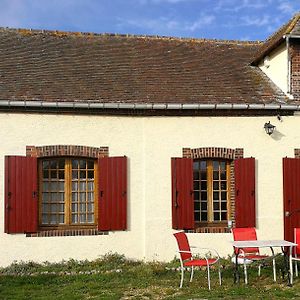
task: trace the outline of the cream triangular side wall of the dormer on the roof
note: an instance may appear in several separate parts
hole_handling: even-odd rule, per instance
[[[288,52],[286,44],[282,43],[279,47],[268,54],[269,67],[262,60],[259,68],[285,93],[288,92]]]

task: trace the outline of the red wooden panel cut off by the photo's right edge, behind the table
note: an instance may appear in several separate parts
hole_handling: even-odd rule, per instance
[[[284,239],[294,241],[300,227],[300,159],[283,158]]]

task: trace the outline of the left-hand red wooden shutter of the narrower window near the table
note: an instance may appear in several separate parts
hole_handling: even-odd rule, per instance
[[[193,160],[172,158],[172,228],[194,229]]]

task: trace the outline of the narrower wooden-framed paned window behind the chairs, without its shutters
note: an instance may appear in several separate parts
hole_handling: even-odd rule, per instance
[[[194,160],[194,219],[201,225],[224,225],[229,219],[230,161]]]

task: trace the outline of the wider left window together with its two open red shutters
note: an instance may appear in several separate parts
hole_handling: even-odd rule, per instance
[[[83,147],[76,157],[49,156],[56,148],[47,146],[44,157],[5,157],[5,232],[126,230],[126,156],[80,156]]]

